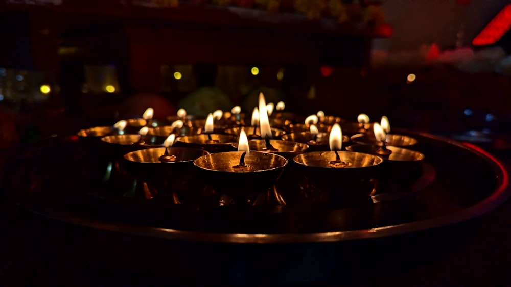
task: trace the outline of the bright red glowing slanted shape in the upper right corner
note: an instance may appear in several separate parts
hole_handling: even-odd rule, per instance
[[[473,45],[491,45],[511,28],[511,4],[507,4],[472,41]]]

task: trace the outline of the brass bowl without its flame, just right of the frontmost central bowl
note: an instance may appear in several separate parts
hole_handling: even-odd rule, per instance
[[[293,161],[312,185],[326,193],[329,203],[347,207],[367,202],[374,192],[374,178],[381,170],[383,159],[361,152],[338,151],[338,154],[346,167],[330,166],[329,162],[336,159],[334,151],[303,153]]]

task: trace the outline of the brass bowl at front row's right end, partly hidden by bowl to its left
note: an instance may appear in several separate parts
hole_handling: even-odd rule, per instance
[[[346,147],[349,151],[364,152],[374,155],[378,154],[378,146],[355,144]],[[386,181],[399,183],[400,185],[409,185],[421,175],[421,162],[424,160],[424,154],[419,151],[386,146],[392,153],[383,158],[382,171],[379,178]]]

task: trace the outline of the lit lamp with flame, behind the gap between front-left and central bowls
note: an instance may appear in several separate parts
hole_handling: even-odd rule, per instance
[[[233,143],[238,142],[235,135],[215,134],[213,114],[209,114],[204,125],[204,133],[200,135],[182,136],[177,138],[176,146],[202,148],[209,152],[233,150]]]

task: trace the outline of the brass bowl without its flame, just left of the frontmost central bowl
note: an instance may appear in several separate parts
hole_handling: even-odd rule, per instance
[[[197,177],[193,161],[208,154],[203,149],[169,147],[169,154],[175,155],[176,160],[162,163],[159,158],[165,149],[156,147],[128,152],[123,156],[123,166],[133,178],[158,187],[175,189]]]

